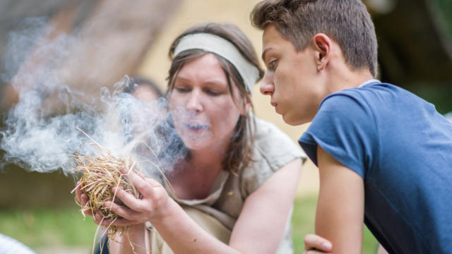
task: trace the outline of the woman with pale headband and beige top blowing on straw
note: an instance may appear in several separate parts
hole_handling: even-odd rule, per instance
[[[113,225],[131,228],[109,241],[110,251],[292,253],[290,214],[304,155],[249,112],[263,73],[251,42],[234,25],[210,23],[179,35],[169,56],[169,109],[189,155],[169,175],[174,193],[137,174],[129,177],[141,199],[113,188],[127,205],[105,203],[123,217]]]

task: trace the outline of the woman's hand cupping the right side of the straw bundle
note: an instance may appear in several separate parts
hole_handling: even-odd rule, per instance
[[[124,174],[127,172],[123,171]],[[119,198],[124,205],[118,205],[112,201],[105,202],[105,207],[109,207],[112,211],[119,215],[118,218],[112,220],[104,219],[102,221],[102,214],[96,212],[95,222],[104,226],[131,226],[134,224],[143,224],[151,219],[158,219],[167,214],[167,205],[169,196],[163,186],[153,179],[145,179],[144,176],[133,172],[128,173],[128,177],[141,193],[141,198],[135,198],[131,193],[124,191],[122,188],[112,188],[117,198]],[[83,198],[83,196],[81,197]]]

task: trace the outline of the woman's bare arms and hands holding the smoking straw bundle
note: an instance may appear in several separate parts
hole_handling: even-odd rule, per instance
[[[117,197],[130,209],[105,203],[107,207],[112,205],[112,210],[124,217],[114,225],[135,225],[124,234],[125,237],[115,239],[122,244],[112,242],[112,253],[132,253],[129,239],[136,246],[145,246],[143,223],[147,221],[153,224],[174,253],[275,253],[295,199],[301,167],[301,159],[286,164],[246,198],[232,230],[229,246],[198,226],[182,207],[167,196],[159,183],[131,174],[129,177],[143,198],[137,200],[119,189]],[[95,214],[95,222],[100,223],[100,219],[100,214]],[[109,222],[102,224],[108,225]],[[134,251],[147,253],[143,248],[135,248]]]

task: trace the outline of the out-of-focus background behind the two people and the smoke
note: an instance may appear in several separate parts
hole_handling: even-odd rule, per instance
[[[149,78],[165,90],[169,44],[191,25],[235,23],[261,54],[261,31],[249,23],[257,2],[0,0],[1,131],[8,110],[18,102],[8,83],[11,77],[52,66],[37,44],[50,45],[61,35],[75,38],[64,55],[57,56],[59,64],[52,66],[52,73],[63,75],[69,87],[87,94],[99,87],[112,88],[124,75]],[[364,4],[379,38],[379,78],[432,102],[441,114],[452,111],[452,0],[367,0]],[[49,28],[45,35],[36,32],[43,28]],[[14,31],[21,31],[22,37]],[[52,95],[47,100],[52,105]],[[258,85],[253,102],[258,117],[275,123],[294,142],[307,128],[285,124],[270,107],[269,98],[258,92]],[[53,107],[58,112],[59,105]],[[0,158],[3,155],[0,150]],[[0,234],[18,239],[37,253],[90,253],[96,226],[79,212],[70,193],[71,176],[60,171],[25,171],[17,164],[5,164],[0,171]],[[297,253],[302,253],[304,234],[314,231],[318,187],[318,171],[307,162],[292,219]],[[374,253],[376,241],[367,230],[364,241],[364,253]]]

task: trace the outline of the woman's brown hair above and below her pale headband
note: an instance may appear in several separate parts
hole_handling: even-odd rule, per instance
[[[172,63],[171,67],[169,68],[169,76],[167,78],[167,92],[170,93],[174,88],[174,80],[186,62],[203,56],[204,54],[209,54],[209,52],[204,52],[200,49],[189,49],[180,52],[179,54],[177,54],[177,56],[174,56],[174,49],[176,49],[177,44],[180,42],[182,37],[196,33],[209,33],[212,35],[217,35],[234,44],[234,46],[237,47],[242,56],[244,56],[247,61],[252,63],[253,66],[258,69],[258,80],[262,78],[263,70],[259,66],[256,51],[254,50],[254,47],[249,39],[242,32],[242,30],[240,30],[236,25],[230,23],[206,23],[197,25],[183,32],[176,38],[176,40],[174,40],[171,47],[169,48],[169,59],[172,60]],[[237,104],[237,106],[239,106],[239,104],[242,104],[242,107],[245,107],[246,102],[251,103],[250,92],[246,90],[244,80],[237,72],[237,69],[232,66],[229,61],[223,59],[221,56],[218,56],[216,54],[214,54],[214,56],[216,56],[218,61],[220,61],[220,65],[225,72],[227,84],[234,103]],[[237,102],[236,99],[234,99],[232,83],[230,80],[233,81],[233,83],[239,90],[240,102]],[[256,80],[256,82],[258,80]],[[253,107],[251,104],[251,110],[252,109]],[[233,173],[237,172],[241,164],[243,167],[246,167],[247,165],[249,165],[249,163],[252,162],[251,151],[254,145],[252,138],[254,134],[254,128],[252,126],[254,126],[254,119],[251,114],[244,114],[239,116],[239,120],[237,121],[237,125],[235,126],[234,133],[232,135],[230,146],[227,150],[227,155],[222,162],[222,168],[226,171]]]

